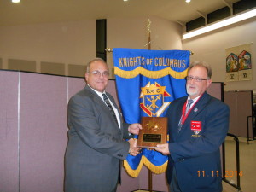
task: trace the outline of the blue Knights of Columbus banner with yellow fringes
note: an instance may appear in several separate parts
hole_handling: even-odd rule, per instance
[[[113,49],[119,103],[126,123],[140,123],[141,117],[165,117],[173,100],[187,96],[189,55],[187,50]],[[166,155],[143,148],[135,157],[128,154],[124,166],[131,177],[138,176],[143,164],[160,174],[166,171],[167,160]]]

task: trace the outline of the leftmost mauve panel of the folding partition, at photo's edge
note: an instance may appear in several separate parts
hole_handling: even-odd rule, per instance
[[[0,191],[19,191],[19,73],[0,71]]]

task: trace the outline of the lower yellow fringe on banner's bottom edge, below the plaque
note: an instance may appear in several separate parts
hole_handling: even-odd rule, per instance
[[[136,170],[131,169],[129,166],[127,160],[124,160],[124,167],[126,172],[131,176],[131,177],[137,177],[139,173],[142,170],[143,164],[148,167],[148,169],[153,172],[154,174],[161,174],[163,172],[166,172],[167,168],[167,163],[168,160],[162,165],[162,166],[154,166],[145,156],[142,156],[142,160],[140,164],[137,166]]]

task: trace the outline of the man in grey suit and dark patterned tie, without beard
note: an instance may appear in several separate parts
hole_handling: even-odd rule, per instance
[[[108,65],[96,58],[87,65],[87,85],[68,102],[68,143],[65,156],[66,192],[115,192],[120,160],[137,155],[141,125],[122,122],[113,96],[105,92]],[[104,94],[104,95],[102,95]]]

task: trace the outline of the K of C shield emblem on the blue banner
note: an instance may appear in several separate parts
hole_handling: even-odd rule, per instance
[[[145,87],[141,87],[140,98],[143,98],[143,103],[140,103],[140,107],[149,117],[160,117],[161,113],[170,105],[171,102],[165,102],[166,96],[171,96],[166,91],[166,86],[160,86],[160,84],[154,82],[154,84],[148,84]]]

